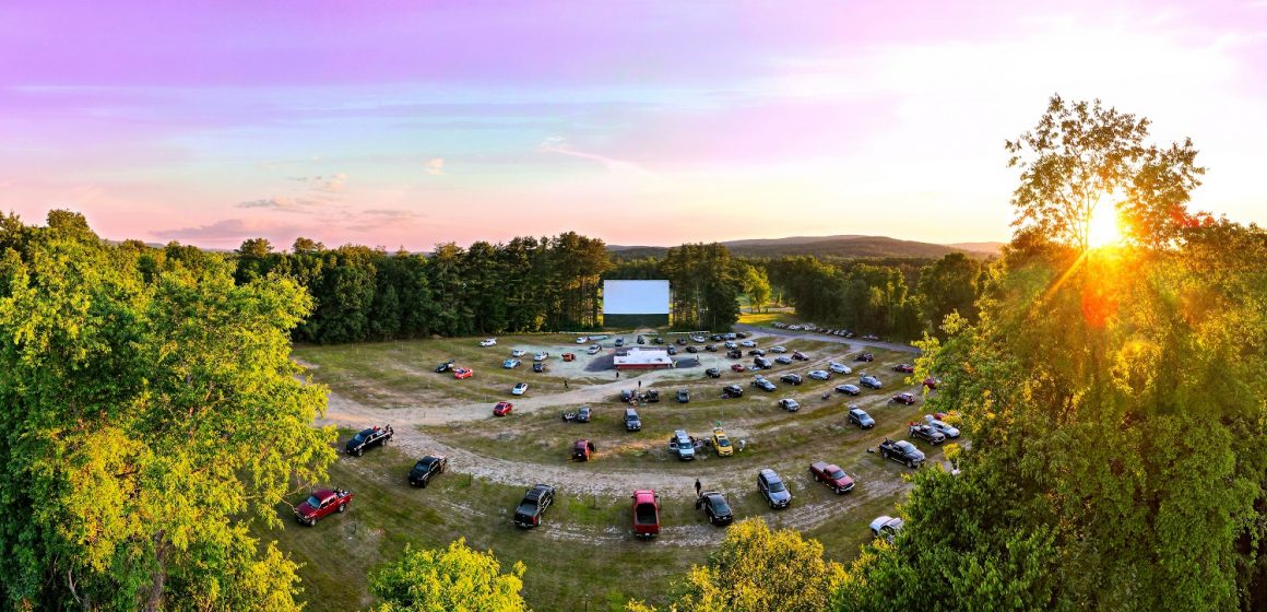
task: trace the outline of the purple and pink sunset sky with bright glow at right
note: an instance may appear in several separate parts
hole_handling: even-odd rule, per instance
[[[91,6],[91,8],[89,8]],[[1267,0],[0,3],[0,209],[430,250],[1002,241],[1003,141],[1101,98],[1267,222]]]

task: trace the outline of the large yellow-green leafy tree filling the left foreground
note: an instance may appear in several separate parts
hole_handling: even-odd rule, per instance
[[[294,563],[247,523],[277,525],[333,459],[289,360],[305,294],[175,245],[143,274],[73,213],[20,237],[0,253],[3,607],[295,609]]]

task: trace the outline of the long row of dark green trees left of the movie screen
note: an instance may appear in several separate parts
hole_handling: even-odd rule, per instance
[[[603,241],[575,232],[426,256],[308,238],[279,252],[255,238],[236,260],[239,284],[276,275],[308,290],[317,305],[294,337],[317,343],[597,328],[611,267]]]

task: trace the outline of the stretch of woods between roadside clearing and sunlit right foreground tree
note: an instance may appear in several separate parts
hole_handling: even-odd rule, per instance
[[[963,253],[920,262],[799,256],[758,265],[764,265],[775,295],[818,324],[908,340],[936,332],[952,312],[974,321],[983,262]]]

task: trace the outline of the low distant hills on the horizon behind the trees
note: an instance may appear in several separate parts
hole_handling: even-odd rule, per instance
[[[886,236],[793,236],[722,242],[731,255],[748,257],[782,257],[812,255],[815,257],[943,257],[963,251],[974,257],[997,255],[1001,242],[962,242],[934,245],[901,241]],[[621,258],[663,257],[668,247],[611,245],[607,250]]]

